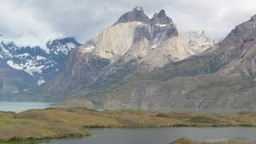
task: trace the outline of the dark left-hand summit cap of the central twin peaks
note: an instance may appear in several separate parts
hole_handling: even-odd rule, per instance
[[[136,6],[133,11],[123,14],[121,18],[118,19],[118,22],[115,23],[115,25],[122,22],[150,23],[150,18],[146,14],[144,14],[144,10],[142,7]]]

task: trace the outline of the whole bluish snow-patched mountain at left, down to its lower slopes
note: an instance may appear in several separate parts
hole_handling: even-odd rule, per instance
[[[39,46],[16,46],[0,39],[2,85],[0,98],[31,90],[54,78],[64,69],[64,59],[70,50],[80,46],[74,38],[55,39]]]

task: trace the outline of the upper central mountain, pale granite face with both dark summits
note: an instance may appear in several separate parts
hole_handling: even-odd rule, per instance
[[[86,42],[79,51],[82,53],[93,52],[103,58],[116,60],[130,49],[135,49],[136,44],[138,46],[145,44],[142,47],[146,49],[157,48],[163,43],[167,43],[167,39],[177,36],[178,30],[172,19],[166,16],[165,10],[160,10],[150,19],[144,14],[142,7],[137,6],[134,10],[123,14],[114,26],[110,26],[103,30],[97,38]],[[136,50],[140,49],[136,47]]]

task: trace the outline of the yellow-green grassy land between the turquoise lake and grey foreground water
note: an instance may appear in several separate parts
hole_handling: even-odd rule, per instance
[[[50,107],[14,114],[0,112],[1,142],[86,138],[95,128],[256,127],[256,112],[204,114],[198,111],[90,110]]]

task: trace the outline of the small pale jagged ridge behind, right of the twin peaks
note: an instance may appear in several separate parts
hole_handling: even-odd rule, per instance
[[[202,33],[198,31],[187,31],[180,32],[179,34],[186,47],[193,50],[196,54],[200,54],[218,43],[217,40],[207,37],[205,31],[202,31]]]

